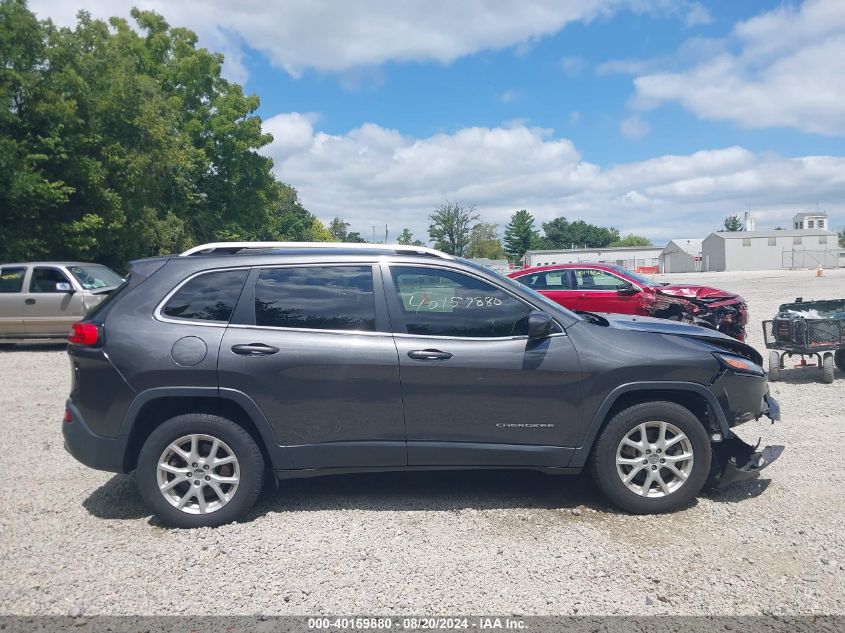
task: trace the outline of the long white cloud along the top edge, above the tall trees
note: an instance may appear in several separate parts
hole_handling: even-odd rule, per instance
[[[243,46],[261,51],[293,76],[305,69],[343,72],[387,61],[450,63],[479,51],[522,52],[571,22],[620,10],[689,20],[686,0],[137,0],[172,24],[187,26],[204,46],[223,50],[243,75]],[[121,0],[31,0],[42,17],[70,24],[78,9],[95,17],[126,16]],[[683,14],[683,15],[679,15]]]

